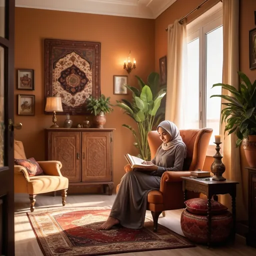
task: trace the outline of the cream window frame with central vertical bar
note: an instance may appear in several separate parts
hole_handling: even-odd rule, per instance
[[[206,126],[206,35],[222,25],[222,2],[217,3],[186,25],[187,43],[199,38],[199,128]],[[215,144],[209,144],[206,155],[212,156],[215,152]]]

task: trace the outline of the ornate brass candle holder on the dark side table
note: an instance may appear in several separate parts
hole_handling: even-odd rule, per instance
[[[226,167],[224,163],[221,161],[221,158],[223,157],[221,153],[219,152],[221,142],[214,142],[216,144],[216,153],[213,155],[214,161],[212,162],[210,166],[211,172],[214,174],[212,177],[212,180],[226,180],[224,177],[222,177],[223,172],[225,171]]]

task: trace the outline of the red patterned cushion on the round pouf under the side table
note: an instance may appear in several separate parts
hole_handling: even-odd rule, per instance
[[[227,210],[227,207],[218,201],[211,201],[211,214],[222,214]],[[185,201],[186,209],[198,215],[207,214],[207,199],[206,198],[192,198]]]

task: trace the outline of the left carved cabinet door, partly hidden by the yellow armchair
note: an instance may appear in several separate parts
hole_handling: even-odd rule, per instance
[[[51,160],[62,163],[60,171],[71,182],[81,181],[80,141],[80,132],[51,131]]]

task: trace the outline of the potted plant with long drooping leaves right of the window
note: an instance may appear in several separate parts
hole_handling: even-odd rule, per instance
[[[226,107],[221,110],[221,123],[225,122],[224,132],[228,131],[228,135],[232,132],[236,134],[236,146],[242,142],[248,164],[256,167],[256,80],[252,84],[243,72],[237,73],[241,79],[238,90],[229,84],[212,85],[229,90],[232,96],[211,97],[222,97],[227,101],[222,103]]]

